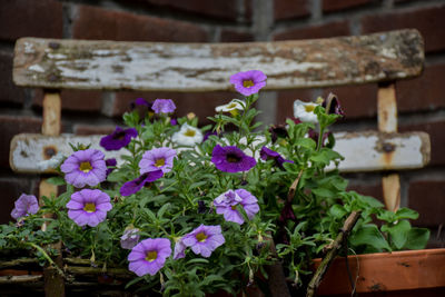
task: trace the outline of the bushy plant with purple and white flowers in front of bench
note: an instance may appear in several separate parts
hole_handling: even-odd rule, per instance
[[[139,98],[123,116],[128,128],[100,141],[103,151],[121,150],[120,160],[72,143],[70,156],[42,165],[58,170],[50,181],[66,190],[40,206],[33,196],[17,200],[17,222],[1,226],[9,261],[0,267],[40,263],[75,290],[204,296],[256,287],[286,296],[306,291],[312,259],[326,251],[334,259],[344,240],[354,253],[426,245],[428,230],[408,222],[414,210],[393,214],[346,190],[328,130],[343,116],[335,96],[297,101],[297,119],[259,131],[255,102],[266,76],[239,72],[230,82],[244,99],[218,107],[214,125],[172,117],[170,99]],[[11,260],[20,253],[28,258]]]

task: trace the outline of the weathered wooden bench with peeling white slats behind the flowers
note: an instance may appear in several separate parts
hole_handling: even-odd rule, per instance
[[[229,77],[251,69],[267,75],[267,90],[378,82],[378,131],[337,133],[336,148],[345,157],[339,167],[345,172],[388,171],[383,178],[384,198],[387,208],[395,210],[400,197],[395,170],[424,167],[431,146],[424,132],[397,133],[394,82],[419,76],[423,62],[423,40],[416,30],[249,43],[22,38],[16,44],[13,81],[22,87],[43,88],[43,125],[41,135],[23,133],[12,139],[10,166],[17,172],[50,172],[38,165],[58,152],[69,156],[69,142],[99,148],[102,136],[60,135],[60,90],[65,88],[233,90]],[[107,151],[106,156],[118,154]],[[51,194],[57,194],[57,187],[43,179],[40,196]],[[46,290],[52,293],[47,296],[60,296],[63,281],[48,281]]]

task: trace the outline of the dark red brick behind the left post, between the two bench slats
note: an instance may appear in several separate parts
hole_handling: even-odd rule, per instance
[[[62,110],[100,111],[102,106],[102,93],[100,91],[63,89],[60,97],[62,100]],[[41,107],[42,101],[43,91],[37,89],[34,91],[32,105],[34,107]]]

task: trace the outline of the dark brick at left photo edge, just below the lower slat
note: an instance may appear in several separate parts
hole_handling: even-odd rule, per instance
[[[11,211],[14,207],[14,201],[22,194],[34,195],[37,197],[37,178],[26,177],[10,177],[0,178],[0,192],[1,192],[1,207],[0,207],[0,224],[8,224],[13,220]]]

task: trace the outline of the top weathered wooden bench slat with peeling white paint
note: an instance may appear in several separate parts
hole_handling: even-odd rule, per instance
[[[258,69],[266,89],[390,81],[418,76],[423,40],[416,30],[245,43],[116,42],[22,38],[18,86],[109,90],[231,90],[229,77]]]

